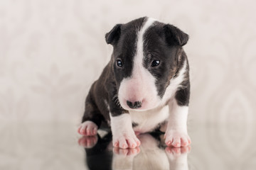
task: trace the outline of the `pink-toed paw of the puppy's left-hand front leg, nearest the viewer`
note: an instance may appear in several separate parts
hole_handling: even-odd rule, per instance
[[[134,134],[124,132],[120,135],[113,135],[113,146],[120,147],[122,149],[139,147],[140,141]]]

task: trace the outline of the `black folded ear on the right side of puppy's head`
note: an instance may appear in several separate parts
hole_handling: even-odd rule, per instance
[[[169,45],[183,46],[188,42],[188,35],[182,30],[176,28],[176,26],[166,24],[164,26],[164,32],[166,35],[166,41],[169,43]]]

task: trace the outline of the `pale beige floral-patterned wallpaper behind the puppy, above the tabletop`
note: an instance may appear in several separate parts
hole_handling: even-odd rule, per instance
[[[1,0],[0,122],[78,123],[105,33],[141,16],[190,35],[191,122],[255,122],[255,1],[242,0]]]

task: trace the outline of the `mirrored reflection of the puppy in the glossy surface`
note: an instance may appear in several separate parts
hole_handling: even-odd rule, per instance
[[[87,165],[90,169],[188,169],[187,154],[190,147],[166,147],[162,135],[143,134],[138,138],[142,142],[140,147],[121,149],[110,147],[111,134],[99,137],[95,147],[85,149]],[[81,141],[95,139],[82,137]],[[87,146],[87,145],[86,145]],[[99,164],[100,160],[100,164]]]

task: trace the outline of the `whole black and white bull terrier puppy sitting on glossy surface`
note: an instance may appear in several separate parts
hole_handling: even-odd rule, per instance
[[[91,86],[78,132],[96,135],[108,123],[114,147],[137,147],[138,133],[156,129],[165,132],[168,146],[189,145],[188,35],[144,17],[117,24],[105,38],[112,57]]]

